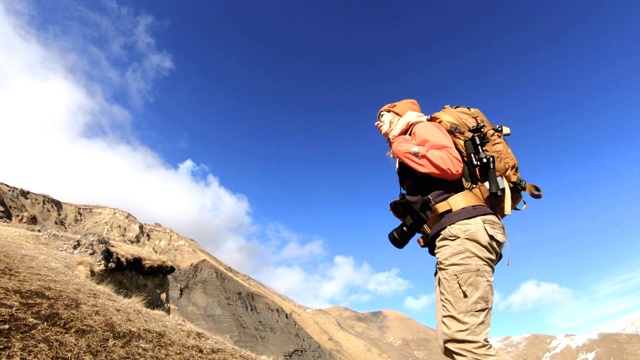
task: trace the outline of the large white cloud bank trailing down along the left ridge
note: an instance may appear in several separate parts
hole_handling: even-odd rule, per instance
[[[0,181],[161,223],[303,304],[345,305],[409,287],[396,269],[326,260],[317,236],[255,224],[248,199],[205,165],[167,164],[132,135],[133,110],[173,68],[155,46],[153,18],[114,1],[64,2],[64,21],[52,22],[63,26],[34,30],[37,14],[25,4],[0,2]]]

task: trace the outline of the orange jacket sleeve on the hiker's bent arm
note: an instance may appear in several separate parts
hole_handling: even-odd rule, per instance
[[[393,139],[391,149],[400,161],[416,171],[446,180],[456,180],[462,175],[460,154],[439,124],[418,123],[411,135]]]

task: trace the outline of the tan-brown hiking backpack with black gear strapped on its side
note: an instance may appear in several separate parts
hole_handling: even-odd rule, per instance
[[[428,117],[443,126],[451,135],[465,163],[462,181],[465,188],[480,197],[500,218],[512,210],[524,210],[522,191],[534,199],[542,190],[520,177],[518,161],[504,137],[510,134],[506,126],[494,126],[475,108],[445,106]],[[523,206],[518,208],[518,204]]]

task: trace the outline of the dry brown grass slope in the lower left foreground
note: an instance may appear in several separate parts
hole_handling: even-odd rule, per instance
[[[0,224],[0,359],[264,359],[96,285],[55,246]]]

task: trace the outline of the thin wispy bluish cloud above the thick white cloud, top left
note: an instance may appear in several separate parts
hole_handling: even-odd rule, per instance
[[[70,65],[67,72],[92,95],[109,99],[123,93],[126,96],[120,99],[138,108],[152,100],[154,82],[174,68],[171,56],[156,47],[152,36],[159,23],[116,1],[79,6],[80,2],[59,0],[55,7],[45,6],[46,11],[37,13],[30,11],[28,2],[7,3],[22,7],[23,18],[33,28],[46,23],[37,29],[37,37]]]

